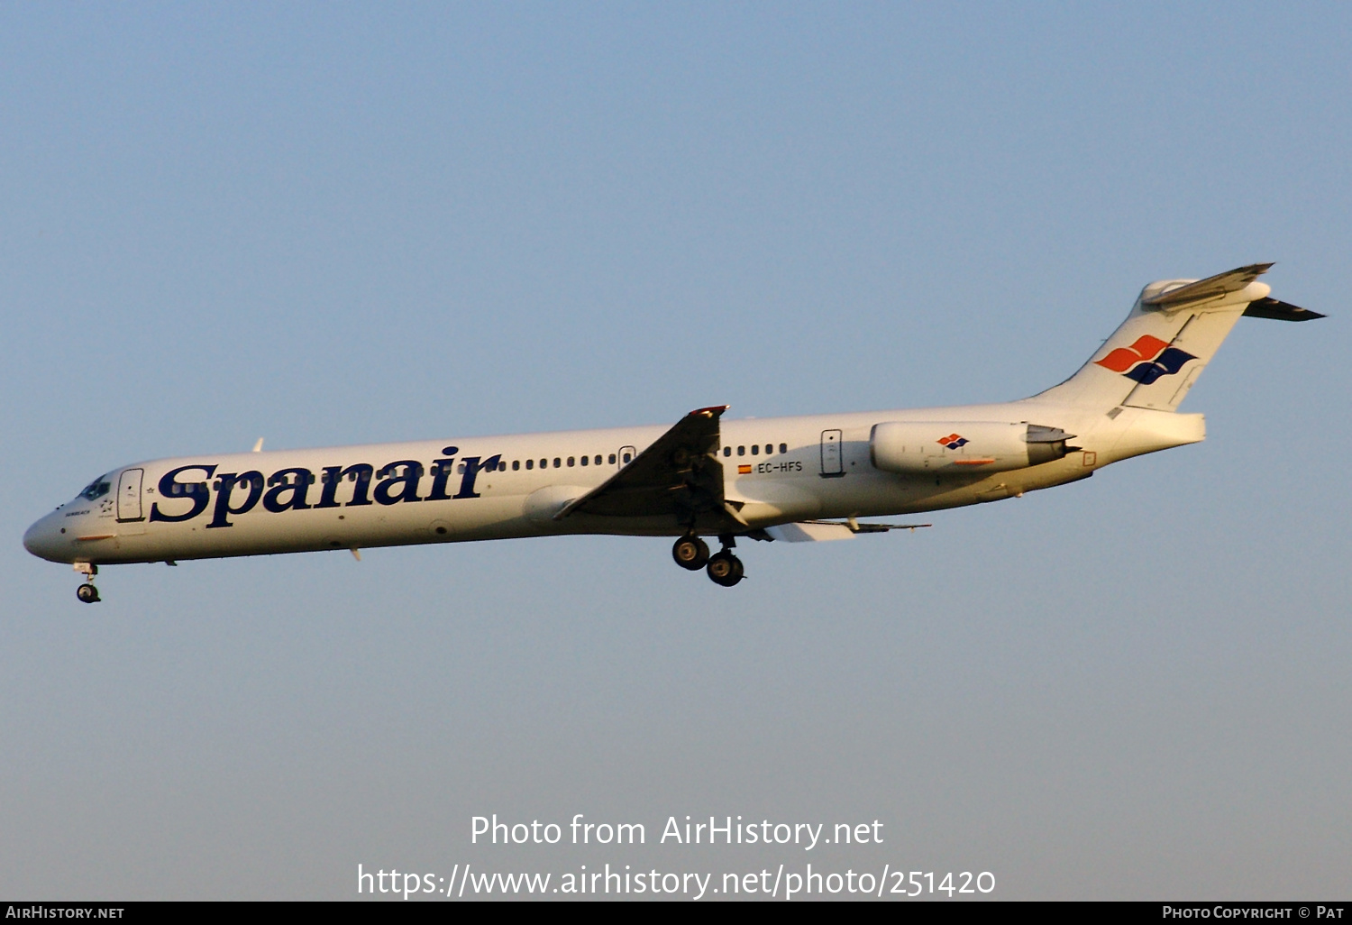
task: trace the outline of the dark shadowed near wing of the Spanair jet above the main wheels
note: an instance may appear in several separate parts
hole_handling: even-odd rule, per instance
[[[602,517],[673,515],[679,525],[714,513],[730,527],[745,529],[723,498],[723,464],[718,461],[718,418],[726,404],[691,411],[658,437],[634,461],[554,515]]]

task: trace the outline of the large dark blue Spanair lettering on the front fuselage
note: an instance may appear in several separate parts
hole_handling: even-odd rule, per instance
[[[479,498],[475,481],[480,472],[506,468],[502,454],[466,456],[461,458],[461,472],[456,472],[457,446],[442,448],[441,458],[431,461],[431,487],[419,494],[427,472],[419,460],[393,460],[377,471],[369,462],[326,465],[319,477],[303,467],[285,467],[264,477],[258,469],[247,472],[218,472],[218,464],[180,465],[160,479],[160,498],[150,506],[150,521],[183,523],[211,510],[207,529],[234,526],[231,518],[257,508],[272,514],[304,511],[324,507],[364,507],[368,504],[410,504],[425,500],[458,500]],[[452,476],[458,475],[456,494],[449,494]],[[212,484],[208,481],[214,480]],[[318,485],[318,491],[316,491]],[[212,500],[215,496],[215,500]],[[187,503],[187,510],[174,508]],[[161,510],[161,504],[169,511]]]

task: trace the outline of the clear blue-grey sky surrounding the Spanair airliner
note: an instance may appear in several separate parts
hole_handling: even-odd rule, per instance
[[[1352,887],[1345,4],[0,7],[0,895],[758,871],[469,818],[882,820],[1005,898]],[[1205,444],[915,536],[105,569],[178,453],[1018,398],[1279,261]],[[819,868],[821,870],[821,868]]]

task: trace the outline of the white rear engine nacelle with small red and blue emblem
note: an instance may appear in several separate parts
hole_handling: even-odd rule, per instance
[[[873,425],[868,452],[873,468],[883,472],[1006,472],[1061,458],[1073,435],[1060,427],[1003,421],[888,421]]]

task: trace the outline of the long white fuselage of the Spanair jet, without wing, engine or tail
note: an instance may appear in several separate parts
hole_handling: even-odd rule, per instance
[[[1073,452],[1003,472],[884,472],[875,467],[869,440],[875,425],[886,422],[933,422],[955,431],[980,422],[1060,427],[1073,434]],[[97,565],[584,533],[680,536],[684,527],[671,517],[554,519],[665,430],[614,427],[151,460],[96,480],[34,523],[24,545],[53,561]],[[1202,415],[1138,407],[1105,414],[1034,398],[722,421],[717,458],[725,496],[756,530],[1018,496],[1202,438]]]

